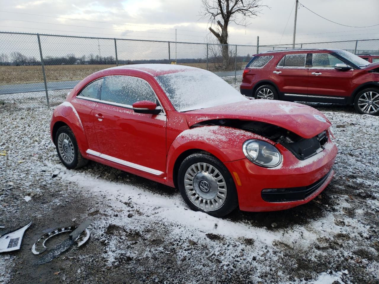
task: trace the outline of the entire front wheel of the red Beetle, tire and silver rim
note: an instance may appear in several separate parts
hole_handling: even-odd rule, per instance
[[[194,211],[222,217],[238,206],[232,175],[210,154],[194,153],[185,158],[179,167],[178,186],[184,201]]]

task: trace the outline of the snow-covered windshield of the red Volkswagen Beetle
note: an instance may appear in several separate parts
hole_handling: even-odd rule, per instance
[[[193,69],[155,77],[177,111],[248,100],[212,72]]]

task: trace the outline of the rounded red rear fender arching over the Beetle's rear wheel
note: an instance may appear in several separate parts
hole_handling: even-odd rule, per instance
[[[54,109],[53,117],[50,123],[50,134],[53,142],[54,125],[60,122],[67,124],[69,128],[71,128],[72,132],[74,133],[75,139],[77,140],[80,153],[83,156],[87,156],[86,150],[88,149],[88,142],[84,132],[83,124],[81,123],[80,117],[74,106],[68,101],[64,101]]]

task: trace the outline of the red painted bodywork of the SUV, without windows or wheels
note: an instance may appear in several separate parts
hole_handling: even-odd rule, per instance
[[[304,67],[278,66],[285,55],[304,53],[307,53]],[[335,60],[330,59],[331,65],[329,67],[313,66],[312,58],[318,53],[326,53]],[[352,104],[354,96],[362,87],[379,88],[379,72],[369,72],[377,69],[379,63],[372,63],[359,68],[351,64],[348,58],[338,57],[334,50],[283,50],[260,53],[254,56],[273,56],[273,58],[260,68],[248,67],[249,64],[245,67],[240,85],[240,91],[243,95],[254,97],[258,87],[271,84],[276,88],[280,100]],[[373,60],[378,60],[379,55],[359,55],[359,57],[373,62]],[[334,62],[344,62],[352,69],[336,70],[332,64]]]

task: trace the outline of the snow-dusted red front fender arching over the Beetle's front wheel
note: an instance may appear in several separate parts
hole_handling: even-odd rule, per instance
[[[242,145],[248,139],[260,139],[275,144],[260,135],[226,126],[200,126],[180,133],[167,154],[167,183],[173,185],[174,166],[180,154],[188,150],[207,151],[221,162],[230,162],[246,158]]]

